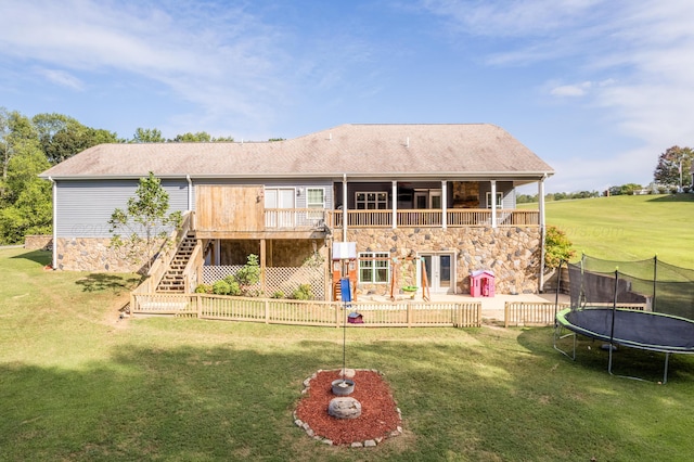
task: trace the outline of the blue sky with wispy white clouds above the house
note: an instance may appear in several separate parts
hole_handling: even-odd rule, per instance
[[[490,123],[547,191],[603,190],[694,145],[693,24],[691,0],[2,0],[0,106],[123,138]]]

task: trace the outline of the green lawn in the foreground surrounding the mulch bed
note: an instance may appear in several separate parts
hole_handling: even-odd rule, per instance
[[[659,386],[609,376],[599,345],[581,343],[571,362],[549,329],[498,328],[348,330],[348,367],[385,374],[404,434],[376,448],[327,447],[292,411],[307,376],[342,365],[342,330],[118,320],[134,278],[44,271],[48,261],[0,249],[3,461],[685,461],[694,452],[694,358],[672,357]],[[616,355],[617,369],[654,381],[661,361]]]

